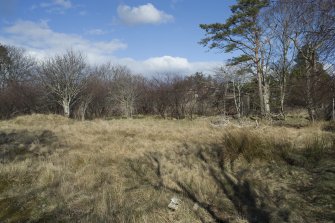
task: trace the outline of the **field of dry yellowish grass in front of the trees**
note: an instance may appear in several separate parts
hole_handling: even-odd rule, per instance
[[[332,126],[1,121],[0,222],[333,222]]]

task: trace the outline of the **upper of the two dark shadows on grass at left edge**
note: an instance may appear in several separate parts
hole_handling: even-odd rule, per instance
[[[0,131],[0,162],[20,161],[52,153],[56,135],[49,131]]]

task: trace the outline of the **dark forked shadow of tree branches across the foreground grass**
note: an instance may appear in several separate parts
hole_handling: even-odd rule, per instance
[[[216,153],[215,157],[213,157],[213,154],[205,154],[208,151],[207,149],[200,149],[198,152],[195,150],[188,155],[194,156],[193,160],[198,166],[205,166],[204,168],[207,169],[207,171],[205,171],[208,173],[211,183],[216,184],[221,191],[220,194],[224,194],[224,196],[230,200],[235,208],[235,212],[238,213],[239,216],[243,216],[248,222],[270,222],[270,213],[266,211],[266,207],[262,206],[265,202],[259,202],[261,198],[256,197],[256,194],[253,192],[252,184],[246,180],[239,179],[238,176],[232,175],[231,172],[224,169],[224,166],[220,164],[220,161],[222,161],[220,158],[221,154],[217,153],[215,149],[211,150]],[[166,184],[163,180],[166,171],[163,170],[164,165],[161,163],[163,159],[162,156],[163,155],[159,153],[147,153],[138,159],[128,160],[130,170],[134,174],[132,177],[137,181],[137,185],[128,190],[138,189],[141,186],[150,186],[154,190],[178,194],[184,197],[184,199],[196,203],[207,215],[211,216],[215,222],[232,222],[234,217],[228,214],[226,210],[224,210],[224,207],[218,203],[212,203],[208,201],[208,199],[202,199],[189,182],[183,181],[182,179],[171,179],[177,187],[171,187],[171,185]],[[167,162],[169,162],[169,160]],[[180,162],[183,161],[181,160]],[[257,205],[259,203],[261,203],[261,206]],[[197,215],[199,213],[196,212],[195,214]],[[198,217],[202,222],[206,222],[202,219],[202,216]],[[235,219],[236,217],[237,216],[235,216]]]

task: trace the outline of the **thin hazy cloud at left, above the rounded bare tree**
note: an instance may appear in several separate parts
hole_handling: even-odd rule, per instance
[[[4,31],[6,36],[0,36],[0,42],[26,48],[38,58],[72,48],[87,54],[90,62],[99,62],[101,56],[112,56],[115,51],[127,48],[127,44],[117,39],[94,42],[80,35],[55,32],[46,21],[21,20]]]

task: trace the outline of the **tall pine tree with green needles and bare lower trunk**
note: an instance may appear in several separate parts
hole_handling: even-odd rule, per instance
[[[269,39],[260,25],[261,10],[269,5],[268,0],[238,0],[231,7],[232,16],[225,23],[200,24],[206,36],[200,41],[210,49],[226,53],[239,51],[230,64],[249,63],[258,80],[260,108],[263,115],[270,113],[270,89],[267,80]]]

